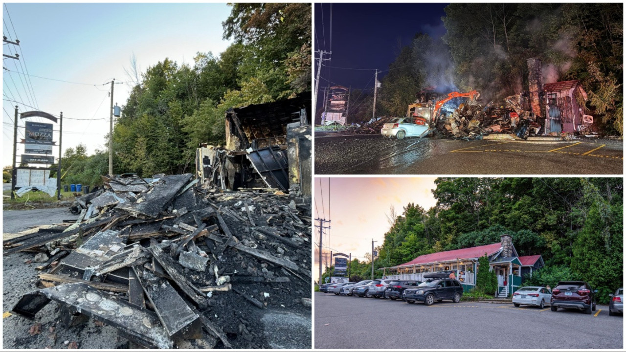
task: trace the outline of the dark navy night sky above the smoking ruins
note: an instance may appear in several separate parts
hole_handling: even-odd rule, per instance
[[[389,64],[399,54],[398,43],[411,44],[416,33],[427,33],[433,38],[446,33],[441,21],[446,6],[441,3],[332,4],[331,37],[331,4],[315,4],[315,48],[332,51],[332,60],[323,64],[320,91],[329,84],[373,89],[374,70],[385,71],[379,73],[379,80],[386,75]]]

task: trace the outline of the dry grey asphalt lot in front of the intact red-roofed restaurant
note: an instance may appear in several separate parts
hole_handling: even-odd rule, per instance
[[[513,304],[424,306],[315,292],[315,348],[623,348],[623,317]]]

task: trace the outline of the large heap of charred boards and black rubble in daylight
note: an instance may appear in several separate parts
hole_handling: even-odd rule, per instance
[[[5,256],[44,261],[12,313],[36,319],[55,301],[66,326],[88,316],[130,348],[269,348],[254,310],[310,314],[310,202],[200,189],[189,173],[103,180],[75,223],[4,241]]]

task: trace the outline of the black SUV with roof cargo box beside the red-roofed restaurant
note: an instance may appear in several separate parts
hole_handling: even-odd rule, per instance
[[[461,282],[450,279],[448,274],[432,273],[424,275],[426,281],[419,284],[416,288],[406,289],[403,292],[403,298],[406,303],[415,303],[421,301],[430,306],[434,301],[441,302],[444,299],[451,299],[454,303],[461,301],[463,294],[463,286]]]

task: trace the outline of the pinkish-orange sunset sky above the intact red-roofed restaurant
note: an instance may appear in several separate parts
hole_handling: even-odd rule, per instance
[[[381,246],[389,230],[386,215],[391,206],[401,215],[409,203],[426,210],[436,205],[431,192],[436,188],[434,180],[429,177],[335,177],[330,179],[329,192],[329,178],[316,178],[314,217],[331,220],[331,229],[326,230],[322,239],[322,252],[352,253],[352,259],[363,261],[365,254],[372,251],[372,239],[378,241],[374,246]],[[319,230],[314,231],[314,242],[319,244]],[[316,249],[312,269],[316,280],[318,258]]]

